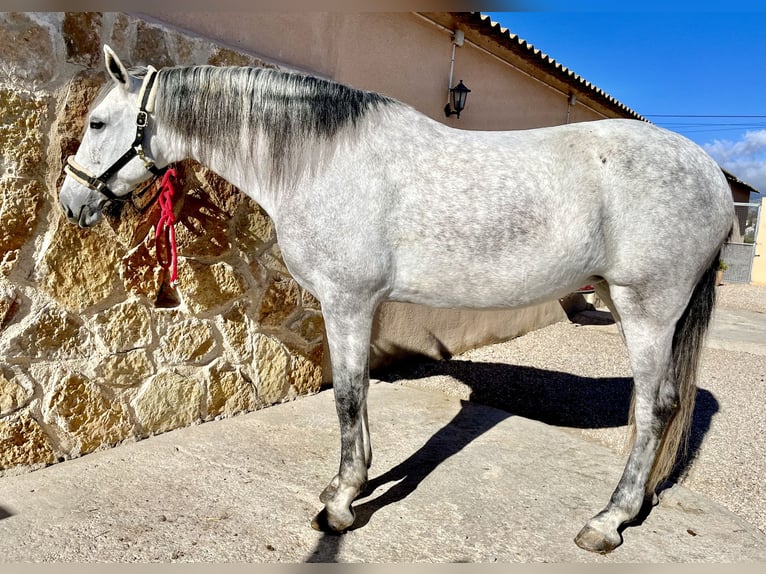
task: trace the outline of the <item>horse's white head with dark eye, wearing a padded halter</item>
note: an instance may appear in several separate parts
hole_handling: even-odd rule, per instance
[[[95,225],[106,203],[129,199],[137,186],[162,173],[148,157],[157,71],[131,75],[109,46],[104,55],[114,85],[90,112],[59,194],[67,219],[81,227]]]

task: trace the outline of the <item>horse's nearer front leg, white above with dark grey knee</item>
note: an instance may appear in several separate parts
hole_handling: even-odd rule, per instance
[[[340,468],[319,499],[325,508],[312,526],[343,532],[354,522],[351,503],[367,483],[372,448],[367,426],[370,330],[374,308],[328,309],[323,304],[340,422]]]

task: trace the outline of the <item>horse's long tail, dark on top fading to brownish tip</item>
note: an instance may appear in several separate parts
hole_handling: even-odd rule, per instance
[[[646,485],[647,493],[654,493],[657,486],[671,475],[676,462],[683,461],[687,454],[694,401],[697,395],[697,369],[715,305],[716,272],[720,256],[719,250],[710,267],[697,282],[683,315],[676,323],[671,368],[678,385],[678,410],[668,423],[657,450]]]

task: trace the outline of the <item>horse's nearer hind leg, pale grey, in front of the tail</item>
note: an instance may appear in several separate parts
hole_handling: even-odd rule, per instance
[[[611,288],[620,312],[622,332],[630,355],[635,385],[636,437],[622,478],[606,508],[580,531],[581,548],[606,553],[622,542],[619,528],[640,512],[648,493],[650,472],[663,434],[678,406],[672,368],[674,320],[648,315],[646,304],[629,288]]]

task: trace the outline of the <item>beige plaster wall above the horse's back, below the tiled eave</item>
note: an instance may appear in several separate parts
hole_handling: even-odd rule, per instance
[[[455,50],[453,85],[471,88],[460,119],[447,119],[452,36],[411,12],[179,12],[141,14],[259,58],[382,92],[454,127],[522,129],[566,122],[568,94],[466,42]],[[286,40],[289,38],[289,41]],[[570,121],[603,118],[576,104]]]

